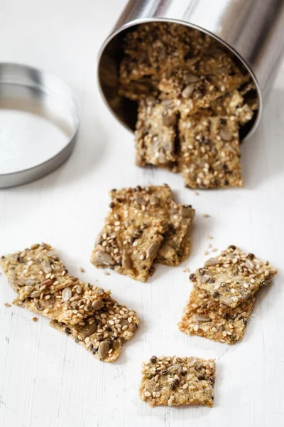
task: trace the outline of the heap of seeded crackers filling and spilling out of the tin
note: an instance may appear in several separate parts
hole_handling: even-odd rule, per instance
[[[179,24],[143,23],[126,35],[119,93],[138,103],[138,166],[180,172],[192,189],[243,186],[239,130],[258,97],[221,43]]]

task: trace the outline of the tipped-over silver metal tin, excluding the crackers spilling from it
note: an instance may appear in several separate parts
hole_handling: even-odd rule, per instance
[[[258,114],[244,137],[256,129],[263,102],[275,80],[284,51],[284,0],[130,0],[104,41],[97,76],[105,102],[116,118],[134,130],[135,102],[117,93],[122,40],[139,23],[180,23],[208,33],[229,48],[249,70],[256,83]]]

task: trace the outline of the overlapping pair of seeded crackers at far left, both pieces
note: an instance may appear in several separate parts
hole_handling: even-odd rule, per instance
[[[138,327],[136,312],[113,300],[109,290],[68,275],[47,243],[2,256],[1,267],[17,292],[13,304],[48,317],[99,360],[114,362]]]

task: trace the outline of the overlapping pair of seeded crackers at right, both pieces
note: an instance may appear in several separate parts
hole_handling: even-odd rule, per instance
[[[256,292],[276,268],[231,245],[190,275],[194,288],[178,327],[186,334],[234,344],[244,337]]]

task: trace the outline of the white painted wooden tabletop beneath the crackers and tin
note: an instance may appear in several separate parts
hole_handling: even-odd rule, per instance
[[[0,191],[0,253],[46,241],[71,273],[99,280],[141,317],[118,361],[100,363],[48,320],[34,323],[31,312],[4,307],[14,294],[2,274],[0,427],[283,426],[283,72],[258,131],[242,147],[246,188],[197,196],[178,175],[134,166],[133,136],[98,93],[97,52],[125,2],[0,0],[0,60],[57,73],[82,105],[80,138],[68,162],[40,181]],[[197,211],[190,258],[179,268],[159,265],[147,284],[95,269],[89,255],[108,190],[164,182]],[[273,285],[259,292],[244,339],[233,347],[188,337],[176,326],[191,288],[182,268],[202,265],[207,234],[216,248],[234,243],[279,268]],[[141,362],[152,354],[216,358],[214,408],[149,408],[139,401]]]

